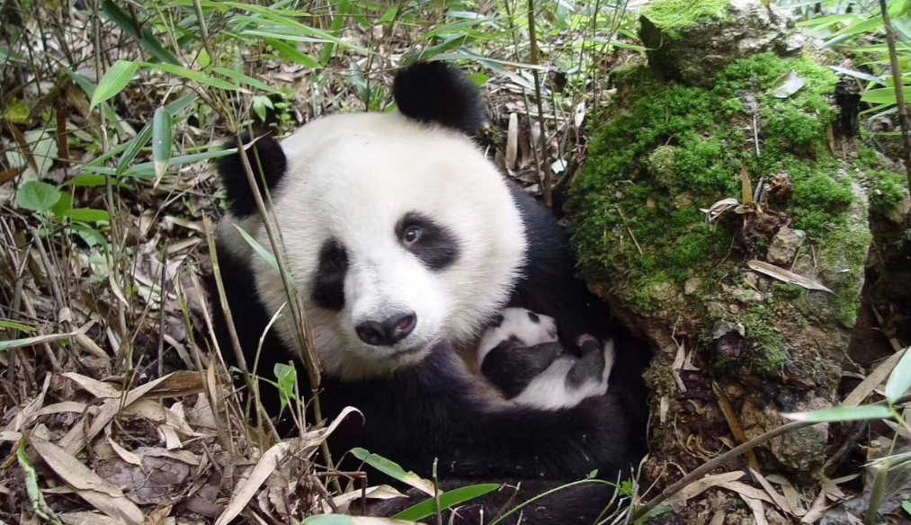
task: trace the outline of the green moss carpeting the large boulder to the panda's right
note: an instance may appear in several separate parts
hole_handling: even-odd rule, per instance
[[[771,96],[792,70],[806,86],[786,99]],[[835,179],[838,161],[828,153],[836,78],[826,68],[761,55],[729,66],[711,89],[661,84],[645,66],[624,68],[614,79],[618,116],[596,133],[568,211],[583,273],[619,284],[643,311],[660,308],[650,292],[654,276],[681,287],[708,275],[730,251],[737,221],[709,226],[700,208],[740,197],[742,165],[753,181],[788,174],[793,227],[811,237],[837,226],[851,204],[848,182]],[[758,158],[748,110],[754,104],[745,100],[763,109]],[[801,160],[806,156],[815,162]]]

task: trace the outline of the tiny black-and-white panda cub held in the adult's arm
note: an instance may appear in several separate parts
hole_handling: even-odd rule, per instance
[[[554,318],[506,308],[477,347],[484,375],[507,399],[525,407],[562,409],[603,396],[614,362],[613,341],[578,338],[580,357],[564,354]]]

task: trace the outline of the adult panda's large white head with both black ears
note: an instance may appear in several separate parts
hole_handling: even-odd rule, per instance
[[[507,301],[527,248],[507,183],[469,137],[484,121],[476,87],[431,62],[401,70],[393,93],[398,113],[327,116],[248,150],[258,152],[322,369],[341,378],[381,375],[476,337]],[[271,315],[286,302],[281,278],[234,225],[267,249],[269,237],[240,158],[219,169],[230,202],[220,247],[249,262]],[[291,344],[290,322],[275,327]]]

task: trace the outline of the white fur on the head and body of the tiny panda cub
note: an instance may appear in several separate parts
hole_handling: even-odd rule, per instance
[[[556,343],[557,322],[554,318],[536,314],[526,308],[504,308],[499,323],[487,328],[477,347],[477,362],[483,366],[491,350],[504,342],[514,341],[514,351],[545,343]],[[553,361],[531,379],[525,389],[511,400],[520,406],[537,409],[561,409],[575,407],[582,399],[602,396],[608,391],[610,370],[614,364],[614,343],[608,339],[602,346],[604,368],[599,376],[587,376],[578,385],[568,381],[570,369],[579,359],[571,355],[558,355]],[[549,359],[549,358],[548,358]],[[508,368],[509,363],[506,363]],[[509,373],[509,370],[503,370]]]

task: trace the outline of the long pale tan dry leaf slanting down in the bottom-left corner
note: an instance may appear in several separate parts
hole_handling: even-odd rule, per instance
[[[145,517],[132,501],[112,483],[102,480],[67,450],[50,441],[29,439],[32,448],[45,460],[57,476],[76,489],[77,494],[107,516],[123,520],[127,525],[141,525]]]

